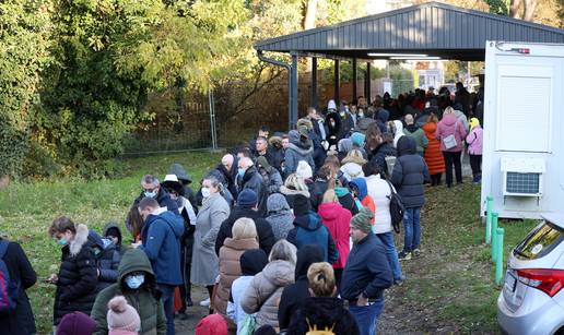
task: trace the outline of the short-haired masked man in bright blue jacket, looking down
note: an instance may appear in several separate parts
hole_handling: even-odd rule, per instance
[[[158,290],[163,292],[163,304],[166,314],[166,334],[175,334],[174,291],[183,285],[180,272],[180,239],[184,235],[184,222],[179,215],[160,207],[156,200],[143,198],[139,203],[139,212],[145,220],[141,230],[142,243],[134,243],[146,253],[156,275]]]

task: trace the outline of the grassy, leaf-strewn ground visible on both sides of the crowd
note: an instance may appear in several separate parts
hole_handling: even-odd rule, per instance
[[[38,274],[28,290],[39,334],[51,330],[54,287],[43,280],[57,272],[60,251],[47,236],[51,220],[68,215],[78,223],[101,229],[115,220],[125,231],[124,219],[139,194],[144,174],[163,178],[173,163],[183,164],[198,183],[219,161],[219,154],[184,153],[152,155],[126,160],[126,175],[113,180],[59,180],[12,183],[0,192],[0,232],[22,243]],[[423,253],[402,263],[404,285],[387,291],[379,333],[497,333],[495,301],[500,288],[493,283],[494,267],[484,244],[479,218],[480,188],[466,183],[454,189],[427,188],[422,212]],[[507,254],[534,222],[502,222]],[[398,236],[397,246],[402,241]],[[195,302],[204,290],[192,289]],[[197,304],[197,303],[196,303]],[[190,319],[177,321],[184,333],[193,332],[205,315],[199,306],[189,309]]]

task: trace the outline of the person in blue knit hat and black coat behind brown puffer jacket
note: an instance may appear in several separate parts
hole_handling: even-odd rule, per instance
[[[220,249],[226,238],[232,237],[233,225],[238,218],[248,217],[255,222],[257,235],[259,239],[259,248],[270,254],[270,249],[277,242],[272,227],[270,224],[257,212],[257,193],[246,189],[239,193],[237,198],[237,205],[231,211],[230,216],[221,224],[218,238],[215,239],[215,253],[220,255]]]

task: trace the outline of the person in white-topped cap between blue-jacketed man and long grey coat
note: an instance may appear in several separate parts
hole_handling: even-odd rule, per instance
[[[184,285],[180,286],[181,308],[178,315],[181,320],[188,318],[186,308],[192,306],[190,296],[190,266],[192,264],[192,246],[193,232],[196,230],[196,212],[191,203],[181,195],[183,184],[176,175],[166,175],[163,181],[163,188],[171,194],[171,198],[178,204],[178,211],[184,220],[184,235],[180,239],[180,272],[184,278]]]

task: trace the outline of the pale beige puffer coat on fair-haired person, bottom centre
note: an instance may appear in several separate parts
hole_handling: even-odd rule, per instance
[[[262,325],[278,327],[278,306],[285,286],[294,283],[294,264],[272,261],[250,282],[240,306],[247,314],[257,312],[257,328]]]

